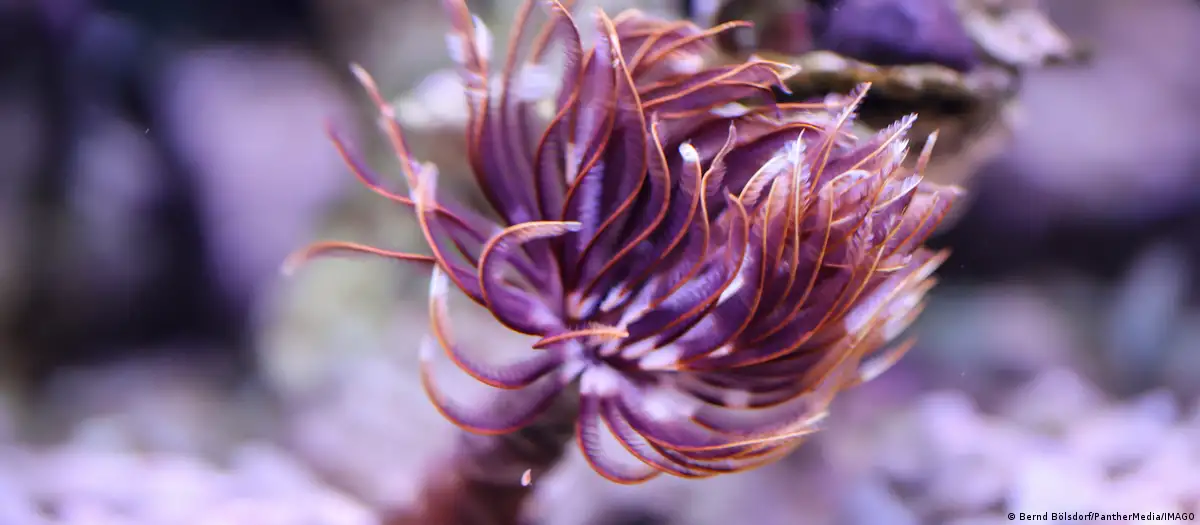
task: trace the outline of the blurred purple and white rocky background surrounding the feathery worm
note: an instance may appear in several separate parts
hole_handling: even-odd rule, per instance
[[[805,1],[917,24],[893,35],[910,43],[954,12],[738,10]],[[469,4],[504,37],[516,0]],[[593,4],[720,16],[715,0]],[[971,198],[936,240],[954,255],[916,349],[779,464],[630,488],[572,455],[534,479],[529,524],[1200,511],[1200,5],[958,7],[992,58],[1048,24],[1088,56],[997,70],[1000,139],[947,164]],[[0,0],[0,525],[366,525],[413,501],[451,433],[415,372],[426,276],[278,268],[317,239],[420,246],[324,126],[394,167],[347,68],[362,64],[418,156],[466,179],[443,31],[434,0]],[[502,344],[480,319],[464,337]]]

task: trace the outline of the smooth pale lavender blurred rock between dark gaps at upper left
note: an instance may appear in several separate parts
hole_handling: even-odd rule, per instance
[[[320,64],[287,49],[200,49],[163,86],[172,134],[196,170],[208,262],[230,307],[251,315],[352,183],[324,133],[348,120],[349,103]]]

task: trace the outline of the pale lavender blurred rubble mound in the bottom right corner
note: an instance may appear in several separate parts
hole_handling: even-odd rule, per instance
[[[1073,400],[1057,405],[1056,393]],[[1046,403],[1057,408],[1037,406]],[[857,428],[875,436],[876,465],[858,483],[890,484],[919,523],[991,523],[1002,512],[1076,508],[1186,512],[1200,497],[1189,473],[1200,467],[1198,428],[1165,392],[1112,403],[1086,381],[1052,370],[1014,398],[1008,415],[983,414],[961,393],[935,392],[907,412]]]

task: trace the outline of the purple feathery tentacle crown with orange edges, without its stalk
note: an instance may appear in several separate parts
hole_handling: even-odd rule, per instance
[[[775,103],[790,66],[751,59],[706,66],[702,30],[626,11],[593,23],[548,2],[517,13],[508,58],[462,0],[444,0],[450,55],[470,117],[466,155],[497,219],[437,192],[394,110],[379,105],[430,254],[326,242],[299,254],[370,252],[430,264],[432,337],[422,381],[455,424],[481,434],[528,426],[578,388],[576,439],[596,472],[638,483],[666,472],[750,469],[816,429],[834,394],[883,372],[908,348],[944,255],[922,243],[959,194],[923,182],[926,145],[906,168],[906,117],[874,138],[847,129],[868,86],[817,103]],[[565,70],[545,89],[551,49]],[[538,103],[552,98],[548,122]],[[460,346],[451,288],[510,330],[540,339],[515,363]],[[438,386],[448,356],[496,388],[461,403]]]

